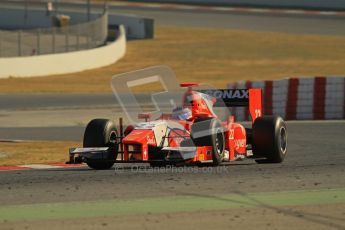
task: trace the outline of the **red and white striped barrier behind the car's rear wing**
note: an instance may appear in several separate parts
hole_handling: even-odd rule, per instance
[[[247,81],[229,88],[262,88],[266,115],[286,120],[345,119],[345,78],[311,77],[279,81]],[[250,120],[246,108],[232,108],[236,119]]]

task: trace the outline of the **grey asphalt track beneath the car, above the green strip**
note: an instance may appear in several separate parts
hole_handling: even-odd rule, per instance
[[[345,122],[290,122],[283,164],[247,159],[213,173],[54,169],[0,172],[0,206],[8,204],[155,197],[191,193],[267,192],[345,187]],[[66,153],[67,156],[67,153]],[[146,168],[146,167],[145,167]]]

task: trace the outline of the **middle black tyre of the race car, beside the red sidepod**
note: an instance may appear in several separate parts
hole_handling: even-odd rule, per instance
[[[195,146],[212,146],[213,165],[219,165],[224,157],[224,130],[216,118],[198,118],[191,127]]]

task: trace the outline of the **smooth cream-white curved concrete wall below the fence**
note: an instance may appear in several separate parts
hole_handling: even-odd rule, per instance
[[[110,65],[126,52],[126,33],[120,26],[119,36],[109,45],[95,49],[32,57],[0,58],[0,78],[66,74]]]

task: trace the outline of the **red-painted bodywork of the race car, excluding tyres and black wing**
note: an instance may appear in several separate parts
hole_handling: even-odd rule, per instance
[[[159,120],[152,121],[152,125],[158,130],[154,131],[150,128],[150,115],[139,114],[138,117],[145,120],[148,128],[144,127],[137,129],[134,126],[129,126],[125,129],[124,137],[121,138],[120,141],[120,149],[123,149],[123,152],[119,152],[121,154],[121,161],[145,162],[155,160],[156,158],[154,158],[152,152],[157,151],[157,146],[160,146],[160,143],[157,142],[166,141],[164,143],[169,147],[180,147],[180,143],[184,139],[190,138],[191,126],[196,119],[202,117],[217,118],[212,107],[210,107],[210,105],[207,103],[207,100],[200,96],[200,92],[193,91],[192,87],[195,85],[197,84],[181,84],[182,87],[188,87],[187,92],[184,94],[182,100],[183,107],[189,108],[192,112],[192,117],[190,119],[172,120],[171,115],[169,114],[163,114],[160,118],[162,121],[177,122],[181,125],[181,127],[184,128],[184,130],[177,129],[174,132],[170,132],[169,135],[162,134],[163,136],[165,135],[163,137],[164,140],[162,139],[158,141],[159,138],[157,138],[157,133],[161,131],[162,133],[164,132],[164,128],[162,128],[162,130],[159,128]],[[262,91],[261,89],[248,89],[246,92],[248,93],[248,100],[245,102],[245,106],[248,107],[252,122],[254,122],[256,118],[262,116]],[[209,99],[212,101],[212,106],[217,101],[217,99],[212,96],[210,96]],[[248,135],[244,126],[236,123],[234,116],[229,116],[228,119],[226,121],[222,121],[221,124],[223,126],[223,130],[225,130],[225,150],[228,151],[227,160],[236,160],[239,155],[247,156]],[[189,159],[187,163],[212,161],[211,152],[212,146],[197,146],[194,158]]]

